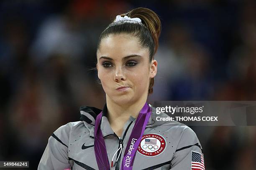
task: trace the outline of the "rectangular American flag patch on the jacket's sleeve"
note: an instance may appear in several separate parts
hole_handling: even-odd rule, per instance
[[[191,170],[205,170],[205,161],[201,153],[192,151]]]

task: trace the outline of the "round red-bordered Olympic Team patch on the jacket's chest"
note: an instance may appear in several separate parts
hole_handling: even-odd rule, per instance
[[[142,136],[137,151],[145,156],[157,156],[163,153],[165,148],[166,141],[164,137],[151,133]]]

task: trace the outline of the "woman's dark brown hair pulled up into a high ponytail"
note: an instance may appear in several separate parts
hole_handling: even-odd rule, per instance
[[[132,34],[138,37],[139,43],[142,47],[148,48],[149,62],[151,62],[157,51],[159,44],[158,39],[161,32],[161,21],[158,15],[154,11],[144,7],[138,7],[128,13],[121,14],[122,17],[125,15],[130,18],[140,18],[141,23],[131,20],[114,22],[114,20],[104,31],[102,31],[98,41],[97,50],[99,50],[101,40],[108,37],[110,34]],[[154,78],[151,78],[148,87],[148,94],[153,92],[153,85]]]

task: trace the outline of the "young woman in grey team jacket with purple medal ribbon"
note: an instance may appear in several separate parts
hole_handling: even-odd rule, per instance
[[[78,122],[49,138],[38,170],[204,170],[196,134],[179,122],[157,121],[153,92],[161,22],[152,10],[118,15],[101,33],[97,72],[103,110],[81,107]],[[168,117],[165,113],[157,115]]]

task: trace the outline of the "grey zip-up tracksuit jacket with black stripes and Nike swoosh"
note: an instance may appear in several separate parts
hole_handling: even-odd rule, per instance
[[[38,170],[100,169],[94,151],[95,118],[100,111],[95,107],[80,107],[80,121],[69,122],[50,136]],[[107,148],[110,170],[120,170],[136,119],[130,117],[124,125],[121,138],[118,138],[110,127],[106,114],[105,105],[100,128]],[[194,158],[192,152],[199,153],[202,156],[200,161],[203,161],[202,147],[194,131],[176,121],[157,121],[158,116],[168,117],[163,112],[156,114],[156,108],[152,107],[151,117],[136,153],[133,170],[191,170],[192,157]],[[115,154],[121,144],[123,148]],[[112,158],[115,163],[113,168],[111,168]],[[202,164],[200,167],[202,168]]]

